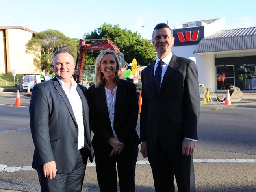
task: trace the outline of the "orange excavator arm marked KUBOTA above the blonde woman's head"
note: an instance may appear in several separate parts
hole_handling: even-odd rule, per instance
[[[95,41],[97,43],[85,44],[85,42],[90,42],[90,41]],[[78,53],[76,57],[76,67],[75,67],[76,70],[73,75],[74,80],[77,83],[81,82],[83,63],[85,59],[86,50],[105,50],[105,49],[110,49],[117,53],[122,69],[128,67],[128,63],[124,61],[124,54],[120,52],[119,48],[113,41],[108,39],[80,39],[79,46],[78,46]]]

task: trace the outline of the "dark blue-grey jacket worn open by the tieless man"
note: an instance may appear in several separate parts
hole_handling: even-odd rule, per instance
[[[87,89],[76,87],[83,105],[84,150],[93,161]],[[76,164],[78,125],[71,104],[56,78],[35,85],[30,100],[30,129],[35,151],[32,167],[55,161],[57,173],[71,172]]]

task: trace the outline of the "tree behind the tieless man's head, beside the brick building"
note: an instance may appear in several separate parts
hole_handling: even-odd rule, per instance
[[[45,68],[52,73],[52,58],[60,48],[71,50],[76,58],[79,40],[66,37],[57,30],[46,30],[35,34],[28,42],[27,51],[35,54],[34,62],[38,69]]]

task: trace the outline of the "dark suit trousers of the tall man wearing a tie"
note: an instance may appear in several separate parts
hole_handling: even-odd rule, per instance
[[[182,155],[182,151],[147,151],[156,192],[175,192],[174,175],[178,192],[195,192],[193,154]]]

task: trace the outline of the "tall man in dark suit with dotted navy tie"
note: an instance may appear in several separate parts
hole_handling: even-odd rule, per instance
[[[194,142],[200,113],[195,62],[171,52],[174,37],[157,24],[152,43],[156,60],[141,73],[141,153],[148,157],[157,192],[195,191]]]

